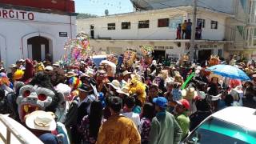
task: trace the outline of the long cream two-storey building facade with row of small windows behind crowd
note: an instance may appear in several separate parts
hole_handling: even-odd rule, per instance
[[[90,35],[94,51],[123,54],[127,49],[139,50],[140,46],[153,46],[156,58],[179,58],[182,54],[195,54],[206,60],[210,54],[224,56],[226,18],[232,14],[198,7],[197,23],[202,25],[202,38],[196,40],[196,50],[190,39],[176,39],[177,26],[192,19],[193,6],[178,6],[159,10],[135,11],[106,17],[78,19],[78,31]],[[194,52],[196,52],[194,54]]]

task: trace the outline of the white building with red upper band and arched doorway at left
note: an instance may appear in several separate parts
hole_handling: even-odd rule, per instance
[[[76,35],[75,22],[71,0],[0,1],[1,60],[6,66],[19,58],[58,61]]]

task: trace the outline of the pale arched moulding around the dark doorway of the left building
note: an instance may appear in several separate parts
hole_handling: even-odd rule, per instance
[[[44,37],[49,40],[49,52],[52,55],[52,60],[54,61],[54,54],[55,54],[54,50],[56,50],[56,47],[57,47],[56,38],[51,34],[41,33],[41,32],[26,34],[22,37],[22,58],[25,59],[25,58],[28,58],[29,56],[27,40],[36,36]]]

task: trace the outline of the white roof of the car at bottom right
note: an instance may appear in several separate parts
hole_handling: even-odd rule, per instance
[[[220,110],[212,116],[214,118],[222,119],[226,122],[234,123],[235,125],[256,130],[256,110],[248,107],[230,106],[226,109]]]

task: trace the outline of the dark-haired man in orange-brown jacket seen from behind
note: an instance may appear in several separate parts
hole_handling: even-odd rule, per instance
[[[141,143],[137,126],[130,118],[120,115],[122,99],[109,99],[111,116],[102,124],[98,132],[97,144]]]

